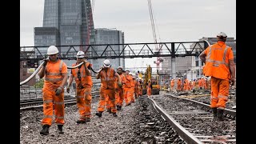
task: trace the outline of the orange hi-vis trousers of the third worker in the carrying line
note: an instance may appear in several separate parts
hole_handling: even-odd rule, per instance
[[[106,98],[109,98],[110,101],[110,109],[112,113],[117,112],[117,106],[115,104],[115,90],[106,90],[106,89],[100,89],[99,90],[100,98],[98,102],[98,111],[103,112],[105,109],[105,104],[108,102],[106,101]]]

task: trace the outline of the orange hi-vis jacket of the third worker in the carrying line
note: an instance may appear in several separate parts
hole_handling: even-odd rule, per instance
[[[113,90],[115,89],[115,78],[114,78],[115,71],[113,68],[108,68],[107,71],[101,70],[100,78],[101,78],[101,88]]]

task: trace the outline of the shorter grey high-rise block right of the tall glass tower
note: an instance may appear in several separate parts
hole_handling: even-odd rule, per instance
[[[99,28],[95,29],[96,34],[96,44],[109,44],[111,47],[106,49],[105,46],[97,46],[94,48],[99,54],[102,54],[103,50],[106,49],[104,52],[104,56],[114,56],[114,52],[116,54],[120,54],[123,49],[123,45],[111,45],[111,44],[124,44],[124,33],[121,30],[116,29],[106,29],[106,28]],[[112,50],[113,49],[113,50]],[[105,55],[106,54],[106,55]],[[122,53],[124,54],[124,53]],[[98,58],[92,60],[92,64],[94,68],[100,68],[102,66],[102,62],[104,58]],[[109,59],[110,64],[114,69],[117,69],[118,66],[125,67],[125,58],[115,58]]]

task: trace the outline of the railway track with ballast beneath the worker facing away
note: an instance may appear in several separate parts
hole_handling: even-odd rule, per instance
[[[210,106],[173,95],[148,98],[154,109],[187,143],[236,143],[236,111],[225,110],[228,121],[214,121]]]

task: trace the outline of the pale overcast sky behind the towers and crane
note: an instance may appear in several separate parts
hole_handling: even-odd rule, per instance
[[[150,0],[158,42],[197,42],[225,32],[236,38],[234,0]],[[125,43],[154,42],[147,0],[92,1],[94,28],[116,28]],[[94,4],[94,5],[93,5]],[[20,1],[20,46],[34,46],[34,27],[42,27],[44,0]],[[127,59],[142,67],[154,66],[156,58]],[[142,64],[143,63],[143,64]]]

